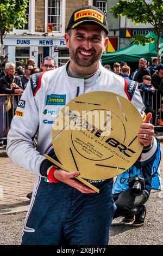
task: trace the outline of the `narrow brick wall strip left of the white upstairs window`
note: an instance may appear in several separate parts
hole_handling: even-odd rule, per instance
[[[45,0],[35,0],[35,32],[45,32]]]

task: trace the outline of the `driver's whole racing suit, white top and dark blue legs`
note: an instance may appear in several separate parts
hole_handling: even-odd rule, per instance
[[[52,150],[52,124],[73,98],[91,91],[109,91],[128,98],[143,114],[144,105],[134,85],[106,70],[99,62],[89,79],[71,78],[64,67],[32,75],[23,92],[8,134],[12,162],[34,172],[35,184],[24,225],[23,245],[107,245],[115,212],[113,179],[95,181],[97,194],[83,194],[65,183],[45,182],[40,174],[44,153]],[[33,138],[38,130],[37,149]],[[64,146],[64,141],[61,141]],[[154,140],[155,144],[155,140]],[[153,147],[154,148],[154,147]],[[142,159],[153,154],[153,148]],[[148,157],[149,156],[149,157]]]

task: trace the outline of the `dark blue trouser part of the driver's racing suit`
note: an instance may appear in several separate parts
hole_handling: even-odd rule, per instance
[[[83,194],[65,183],[41,178],[24,225],[22,245],[108,245],[116,210],[112,183],[112,178],[98,182],[99,194]]]

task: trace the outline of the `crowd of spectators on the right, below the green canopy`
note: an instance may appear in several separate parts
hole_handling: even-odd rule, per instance
[[[108,64],[105,64],[104,67],[111,70]],[[148,67],[147,60],[140,58],[139,67],[132,73],[130,73],[131,70],[127,62],[115,62],[112,71],[123,78],[139,83],[138,88],[146,106],[145,113],[151,112],[153,124],[163,126],[163,64],[158,64],[158,57],[153,57],[152,64]],[[157,120],[157,123],[155,123],[155,120]]]

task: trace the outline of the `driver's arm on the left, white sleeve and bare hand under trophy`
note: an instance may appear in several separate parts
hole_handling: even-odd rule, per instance
[[[53,163],[49,163],[49,161],[34,148],[32,138],[39,126],[39,110],[30,84],[28,84],[24,91],[21,100],[24,102],[24,108],[18,107],[17,110],[21,112],[21,115],[16,115],[12,120],[11,129],[8,133],[7,153],[16,166],[34,172],[41,177],[45,177],[47,176],[48,169],[53,166]],[[39,100],[41,102],[41,99]],[[95,193],[91,188],[73,179],[78,175],[78,171],[70,173],[57,169],[54,172],[54,178],[76,188],[80,192]]]

